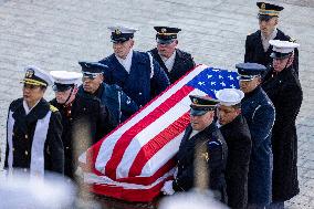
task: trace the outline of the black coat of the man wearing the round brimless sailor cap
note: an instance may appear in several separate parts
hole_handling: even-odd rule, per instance
[[[226,181],[228,206],[232,209],[247,209],[248,173],[252,148],[249,126],[242,115],[220,127],[228,145]]]

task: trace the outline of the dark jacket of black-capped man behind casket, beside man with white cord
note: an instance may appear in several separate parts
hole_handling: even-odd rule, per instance
[[[154,59],[159,63],[159,65],[165,70],[171,84],[178,81],[189,70],[196,66],[196,63],[191,54],[176,49],[175,63],[174,63],[171,71],[169,72],[164,61],[161,60],[160,55],[158,54],[157,48],[155,48],[154,50],[150,50],[149,52],[153,54]]]

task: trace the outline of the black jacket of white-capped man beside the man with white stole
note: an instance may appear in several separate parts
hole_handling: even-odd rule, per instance
[[[77,157],[111,132],[114,126],[107,108],[102,106],[98,100],[76,94],[72,105],[67,107],[59,104],[55,98],[51,101],[51,104],[57,107],[62,115],[65,175],[73,177]]]

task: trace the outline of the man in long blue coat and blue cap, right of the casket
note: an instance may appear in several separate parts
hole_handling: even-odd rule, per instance
[[[252,151],[249,166],[248,208],[264,208],[271,202],[272,147],[271,132],[274,106],[261,87],[261,74],[266,71],[258,63],[239,63],[240,88],[244,92],[241,109],[250,128]]]

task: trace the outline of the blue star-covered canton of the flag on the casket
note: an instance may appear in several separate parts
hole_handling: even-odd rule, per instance
[[[222,88],[239,88],[238,73],[208,67],[195,76],[187,85],[207,93],[216,98],[214,93]]]

